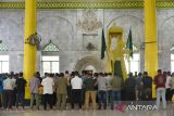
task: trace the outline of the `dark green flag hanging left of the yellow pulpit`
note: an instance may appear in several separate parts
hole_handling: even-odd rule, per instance
[[[107,44],[105,44],[105,38],[104,38],[104,30],[102,29],[102,36],[101,36],[101,60],[104,59],[105,50],[107,50]]]

